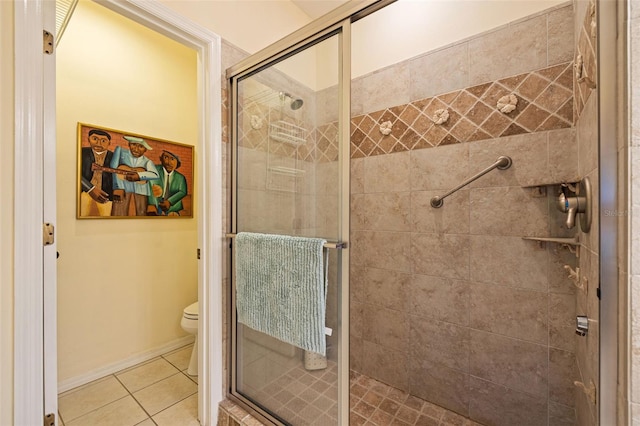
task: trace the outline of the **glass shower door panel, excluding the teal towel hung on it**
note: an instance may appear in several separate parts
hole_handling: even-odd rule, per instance
[[[233,232],[328,241],[326,356],[238,322],[233,274],[231,394],[276,423],[339,424],[339,367],[346,368],[339,355],[340,292],[347,284],[340,241],[348,235],[341,213],[348,174],[341,172],[339,38],[327,35],[232,83]]]

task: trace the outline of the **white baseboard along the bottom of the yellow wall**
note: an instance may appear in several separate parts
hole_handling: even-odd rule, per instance
[[[171,352],[175,349],[189,345],[194,341],[195,341],[195,336],[193,335],[181,337],[177,340],[167,343],[166,345],[158,346],[146,352],[124,359],[122,361],[118,361],[113,364],[100,367],[96,370],[89,371],[86,374],[82,374],[80,376],[75,376],[75,377],[71,377],[69,379],[63,380],[61,382],[58,382],[58,393],[62,393],[62,392],[68,391],[69,389],[73,389],[78,386],[85,385],[94,380],[98,380],[110,374],[117,373],[118,371],[124,370],[125,368],[133,367],[134,365],[139,364],[141,362],[148,361],[160,355],[164,355],[168,352]]]

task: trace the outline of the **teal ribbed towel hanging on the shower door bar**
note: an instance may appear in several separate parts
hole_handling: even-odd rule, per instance
[[[235,240],[238,322],[326,355],[326,240],[247,232]]]

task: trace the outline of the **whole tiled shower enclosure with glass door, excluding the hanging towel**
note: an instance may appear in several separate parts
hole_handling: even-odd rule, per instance
[[[228,71],[231,233],[346,243],[327,358],[232,316],[230,394],[293,425],[598,424],[599,217],[564,204],[588,178],[599,207],[595,6],[368,4]]]

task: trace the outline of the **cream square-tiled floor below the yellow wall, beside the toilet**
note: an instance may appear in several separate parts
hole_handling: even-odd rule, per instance
[[[192,345],[58,395],[65,426],[197,426],[198,380],[187,375]]]

